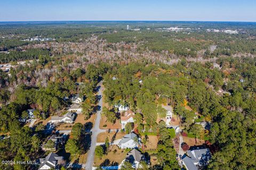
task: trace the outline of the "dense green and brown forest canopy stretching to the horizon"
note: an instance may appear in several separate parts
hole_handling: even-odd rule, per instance
[[[126,30],[126,25],[140,30]],[[162,106],[169,105],[183,134],[214,148],[207,169],[255,169],[255,38],[255,23],[1,22],[0,133],[10,138],[0,140],[0,158],[39,158],[44,126],[28,128],[21,122],[26,110],[35,109],[36,119],[45,121],[65,114],[71,104],[66,99],[79,94],[85,97],[81,107],[88,120],[103,80],[107,121],[118,120],[115,105],[127,105],[135,112],[136,132],[145,140],[157,136],[156,150],[147,153],[157,165],[143,168],[180,169],[175,132],[159,121],[166,116]],[[210,122],[210,130],[196,124],[202,119]],[[87,151],[85,129],[80,123],[71,130],[66,149],[73,158]],[[97,150],[102,157],[102,148]],[[35,167],[0,165],[29,168]]]

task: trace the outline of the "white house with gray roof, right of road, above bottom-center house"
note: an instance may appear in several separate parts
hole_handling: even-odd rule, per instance
[[[117,146],[121,149],[126,149],[126,148],[133,149],[138,147],[138,141],[139,139],[137,134],[132,132],[132,133],[126,134],[122,138],[122,140],[118,143]]]

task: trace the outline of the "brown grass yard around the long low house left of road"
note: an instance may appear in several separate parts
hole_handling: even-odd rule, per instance
[[[75,123],[73,123],[73,124],[69,124],[69,123],[60,124],[60,125],[57,126],[56,129],[57,129],[57,130],[71,130],[72,127],[73,127],[76,123],[85,124],[85,123],[87,123],[87,122],[91,122],[91,123],[93,123],[93,125],[94,125],[94,121],[95,121],[95,117],[96,117],[95,114],[93,114],[93,115],[89,118],[89,120],[84,120],[84,117],[85,117],[85,116],[84,116],[83,114],[79,114],[79,115],[77,115],[77,117],[76,117]]]

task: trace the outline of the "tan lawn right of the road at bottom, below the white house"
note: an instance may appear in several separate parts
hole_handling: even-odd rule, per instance
[[[94,156],[94,166],[117,166],[126,157],[127,151],[125,149],[119,149],[116,145],[111,146],[107,155],[104,155],[101,159]]]

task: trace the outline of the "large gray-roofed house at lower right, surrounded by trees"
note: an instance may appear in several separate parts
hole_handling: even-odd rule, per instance
[[[205,167],[211,158],[209,149],[197,147],[190,149],[182,156],[182,164],[188,170],[198,170]]]

